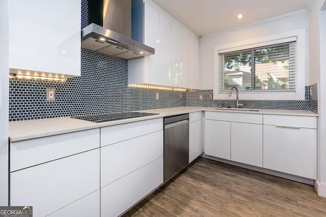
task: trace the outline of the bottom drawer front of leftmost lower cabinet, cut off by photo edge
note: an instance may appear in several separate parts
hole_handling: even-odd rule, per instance
[[[33,208],[34,209],[34,208]],[[79,199],[68,206],[59,209],[50,217],[99,217],[100,216],[100,190]]]

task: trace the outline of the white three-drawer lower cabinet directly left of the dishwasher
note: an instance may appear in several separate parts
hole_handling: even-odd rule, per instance
[[[101,144],[101,216],[118,216],[163,183],[163,118],[105,127]]]

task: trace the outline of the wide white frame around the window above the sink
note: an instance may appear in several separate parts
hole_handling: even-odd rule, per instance
[[[295,40],[293,40],[295,39]],[[296,41],[295,90],[239,91],[240,100],[305,100],[306,78],[306,29],[298,29],[267,37],[256,38],[213,47],[213,99],[230,100],[228,92],[219,92],[219,54],[277,43]]]

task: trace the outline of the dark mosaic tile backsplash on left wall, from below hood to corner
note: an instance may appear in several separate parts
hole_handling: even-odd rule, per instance
[[[11,78],[9,121],[186,105],[185,92],[135,89],[127,83],[127,60],[82,49],[80,77],[67,81]],[[46,101],[46,88],[56,88],[56,101]]]

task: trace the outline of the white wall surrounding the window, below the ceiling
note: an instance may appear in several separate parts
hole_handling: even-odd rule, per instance
[[[200,89],[213,89],[213,47],[216,45],[230,44],[253,38],[289,32],[296,29],[308,29],[309,12],[306,10],[296,11],[272,19],[263,20],[250,25],[231,28],[222,32],[203,36],[199,41],[200,56]],[[308,31],[307,31],[308,35]],[[308,39],[308,37],[307,37]],[[308,47],[308,41],[307,41]],[[308,60],[308,53],[306,55]],[[308,62],[308,61],[307,61]],[[306,64],[308,72],[309,64]],[[306,84],[308,73],[306,73]]]

